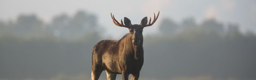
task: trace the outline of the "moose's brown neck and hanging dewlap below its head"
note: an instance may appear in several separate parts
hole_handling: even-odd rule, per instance
[[[120,44],[123,46],[124,51],[134,53],[134,59],[138,60],[139,58],[143,57],[143,52],[141,52],[143,49],[143,36],[141,36],[139,46],[134,46],[132,44],[132,37],[130,36],[131,34],[126,34],[119,41],[121,42]]]

